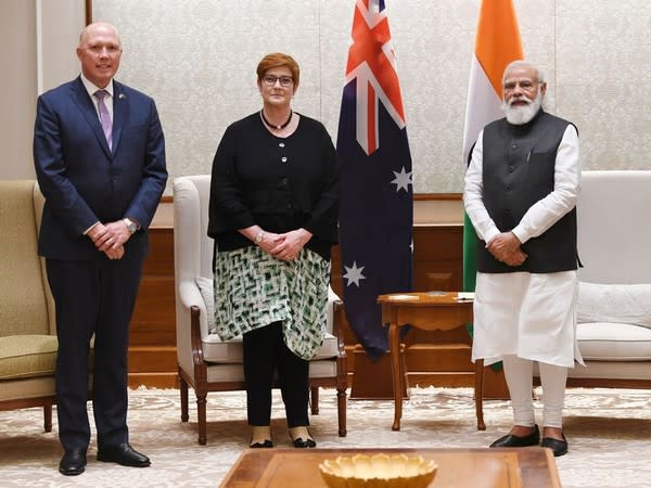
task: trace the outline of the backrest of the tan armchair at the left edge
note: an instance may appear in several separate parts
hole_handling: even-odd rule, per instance
[[[0,336],[52,333],[35,195],[34,180],[0,181]]]

